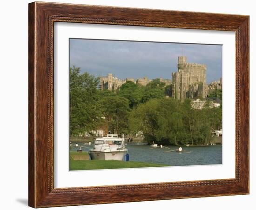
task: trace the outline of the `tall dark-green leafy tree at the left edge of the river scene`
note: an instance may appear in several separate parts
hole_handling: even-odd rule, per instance
[[[69,132],[72,136],[93,131],[101,122],[101,108],[97,94],[99,80],[93,75],[80,73],[79,67],[70,68]]]

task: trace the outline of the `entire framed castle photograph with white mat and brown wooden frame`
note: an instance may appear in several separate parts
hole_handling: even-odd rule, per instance
[[[249,194],[249,16],[29,4],[29,206]]]

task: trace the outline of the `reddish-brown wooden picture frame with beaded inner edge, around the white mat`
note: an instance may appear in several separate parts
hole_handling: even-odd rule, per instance
[[[29,4],[29,206],[249,194],[249,16],[33,2]],[[236,33],[236,178],[54,188],[54,22]]]

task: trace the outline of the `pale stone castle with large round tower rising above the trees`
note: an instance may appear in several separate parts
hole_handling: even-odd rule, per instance
[[[187,63],[186,56],[178,57],[178,71],[172,73],[171,79],[158,78],[160,82],[164,82],[168,88],[166,94],[170,97],[183,101],[185,98],[207,98],[208,92],[216,89],[222,89],[222,79],[206,83],[206,65]],[[118,90],[119,87],[132,81],[135,84],[146,86],[152,79],[144,77],[143,79],[118,79],[112,73],[108,76],[100,77],[99,89],[101,90]]]

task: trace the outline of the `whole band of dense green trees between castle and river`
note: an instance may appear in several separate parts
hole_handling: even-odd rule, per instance
[[[212,130],[222,128],[222,107],[191,108],[191,101],[166,98],[165,84],[154,79],[146,86],[131,81],[118,91],[98,90],[99,79],[70,68],[70,135],[107,126],[112,133],[158,144],[208,144]]]

